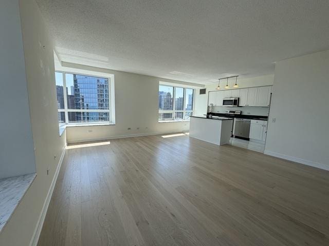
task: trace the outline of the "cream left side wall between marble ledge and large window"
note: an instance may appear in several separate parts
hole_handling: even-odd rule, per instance
[[[18,0],[6,2],[17,4]],[[1,10],[3,7],[2,5]],[[4,10],[9,11],[7,7]],[[11,246],[29,245],[65,146],[65,132],[61,137],[59,136],[51,40],[46,32],[39,8],[33,0],[20,0],[20,13],[37,175],[0,234],[0,245]],[[15,28],[21,30],[18,26]],[[11,42],[15,40],[12,39]],[[45,45],[45,49],[42,49],[40,44]],[[11,66],[16,68],[19,61],[19,59],[15,60],[14,65],[11,64]],[[14,82],[17,83],[17,81]],[[27,102],[25,104],[27,105]],[[21,106],[24,107],[24,105]],[[15,127],[16,122],[12,122],[11,127],[15,131],[20,131],[26,122],[19,123],[19,127]],[[19,139],[16,141],[19,144]],[[17,147],[14,150],[17,155],[21,151]],[[31,151],[33,154],[33,149]],[[54,155],[57,156],[56,160],[54,160]],[[49,175],[46,174],[47,168],[50,170]]]

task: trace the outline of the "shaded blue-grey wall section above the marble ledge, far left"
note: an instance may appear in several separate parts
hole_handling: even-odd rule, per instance
[[[0,179],[35,172],[19,2],[0,8]]]

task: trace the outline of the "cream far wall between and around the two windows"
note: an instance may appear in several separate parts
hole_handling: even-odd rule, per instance
[[[67,127],[67,142],[69,143],[139,134],[180,132],[188,131],[190,128],[188,121],[158,122],[159,81],[189,87],[196,86],[195,84],[77,64],[63,63],[63,66],[65,67],[57,66],[56,69],[114,74],[115,79],[115,126]]]

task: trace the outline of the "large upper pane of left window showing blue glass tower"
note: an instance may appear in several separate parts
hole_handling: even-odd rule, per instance
[[[108,79],[65,74],[68,109],[109,109]]]

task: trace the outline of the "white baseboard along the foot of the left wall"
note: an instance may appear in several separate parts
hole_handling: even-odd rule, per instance
[[[49,206],[49,203],[50,203],[50,199],[51,199],[51,196],[52,196],[53,189],[55,188],[55,185],[56,185],[58,174],[59,174],[60,169],[61,169],[61,166],[62,166],[62,162],[63,162],[64,155],[65,155],[65,151],[66,151],[66,145],[63,148],[62,155],[61,155],[61,158],[60,158],[60,160],[58,162],[56,172],[53,175],[53,178],[52,178],[52,181],[51,181],[51,185],[50,185],[50,188],[49,188],[49,191],[48,191],[46,200],[43,203],[43,208],[41,210],[41,214],[39,216],[38,222],[36,222],[34,233],[33,233],[33,236],[32,236],[32,239],[30,241],[29,246],[36,246],[38,244],[40,233],[41,233],[42,226],[43,226],[43,222],[45,221],[45,217],[46,217],[46,214],[47,214],[48,206]]]

